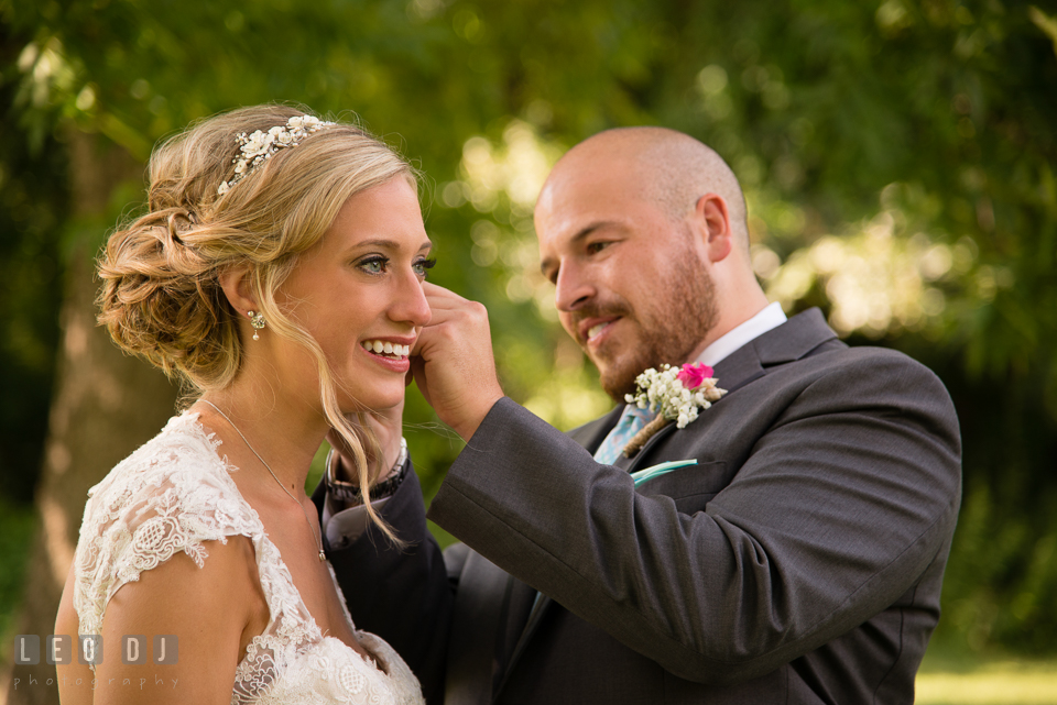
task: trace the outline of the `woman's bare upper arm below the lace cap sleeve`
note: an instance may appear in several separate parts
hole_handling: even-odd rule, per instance
[[[236,667],[253,637],[268,625],[269,610],[248,537],[208,541],[205,548],[208,558],[201,565],[177,553],[118,588],[102,619],[102,659],[95,673],[76,659],[58,667],[64,704],[87,704],[92,698],[118,703],[230,702]],[[72,575],[59,606],[56,634],[78,634],[73,588]],[[128,662],[124,637],[130,635],[142,637],[144,663]],[[172,657],[154,653],[155,636],[173,637],[166,643],[170,649],[175,647],[175,663],[159,663]],[[143,679],[143,692],[124,685],[139,684]]]

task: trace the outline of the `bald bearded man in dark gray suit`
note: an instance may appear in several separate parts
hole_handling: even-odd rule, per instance
[[[415,376],[467,440],[429,518],[464,543],[446,584],[408,473],[382,510],[421,543],[330,552],[358,626],[449,704],[913,702],[960,497],[942,385],[769,305],[738,181],[687,135],[577,145],[535,225],[618,408],[568,436],[543,422],[502,395],[483,309],[426,285]],[[624,456],[650,419],[623,396],[662,363],[712,366],[727,394]],[[630,476],[669,461],[694,464]],[[382,599],[355,584],[372,580]]]

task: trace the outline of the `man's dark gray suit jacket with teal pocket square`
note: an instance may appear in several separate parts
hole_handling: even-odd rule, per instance
[[[493,407],[429,510],[466,544],[447,703],[913,702],[960,498],[942,385],[817,310],[716,376],[623,466],[591,458],[619,410],[565,436]]]

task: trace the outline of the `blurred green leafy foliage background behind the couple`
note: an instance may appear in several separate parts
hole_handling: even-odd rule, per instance
[[[738,173],[774,299],[821,306],[852,342],[903,349],[950,388],[966,495],[940,638],[1053,650],[1053,7],[0,0],[0,487],[12,503],[30,500],[40,466],[67,253],[97,246],[142,195],[131,184],[111,212],[73,219],[72,131],[145,161],[160,137],[240,104],[353,111],[427,175],[434,279],[488,306],[508,393],[570,427],[608,401],[538,276],[535,189],[593,132],[662,124]],[[408,421],[432,492],[460,444],[415,394]]]

